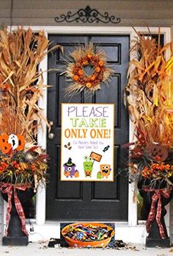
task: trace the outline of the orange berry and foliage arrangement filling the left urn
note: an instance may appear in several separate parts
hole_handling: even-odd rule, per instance
[[[12,154],[0,154],[0,179],[7,183],[32,184],[44,182],[47,155],[38,146]]]

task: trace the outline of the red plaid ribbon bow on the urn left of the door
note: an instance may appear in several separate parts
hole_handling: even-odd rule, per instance
[[[25,214],[23,212],[23,207],[21,205],[21,202],[18,199],[18,193],[17,193],[17,190],[26,191],[26,188],[31,188],[31,185],[29,185],[29,184],[12,185],[10,183],[4,183],[4,182],[1,182],[1,184],[0,184],[1,192],[7,193],[7,196],[8,196],[5,236],[7,236],[7,230],[8,230],[8,226],[9,226],[9,222],[10,222],[10,212],[12,210],[12,192],[14,192],[15,208],[18,212],[19,218],[21,218],[21,225],[22,225],[21,230],[26,235],[28,235],[28,232],[26,231]]]

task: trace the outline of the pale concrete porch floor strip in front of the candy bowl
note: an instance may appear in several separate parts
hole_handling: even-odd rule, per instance
[[[173,256],[173,248],[160,249],[160,248],[145,248],[141,244],[130,244],[131,249],[67,249],[67,248],[48,248],[47,241],[40,241],[29,243],[28,246],[0,246],[0,256],[37,256],[37,255],[62,255],[62,256],[88,256],[88,255],[109,255],[109,256]],[[135,246],[136,249],[133,249]]]

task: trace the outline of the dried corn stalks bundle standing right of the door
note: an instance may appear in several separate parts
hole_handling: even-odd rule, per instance
[[[160,41],[160,40],[159,40]],[[139,143],[173,145],[172,43],[163,48],[155,39],[138,33],[132,51],[139,55],[128,69],[128,110]],[[169,60],[165,51],[171,51]]]

